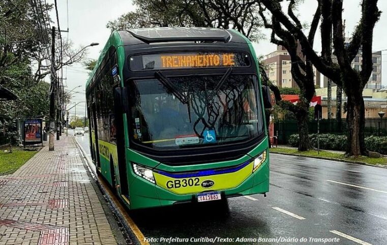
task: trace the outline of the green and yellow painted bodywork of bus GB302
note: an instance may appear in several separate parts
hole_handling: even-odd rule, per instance
[[[234,35],[239,35],[243,37],[250,49],[252,54],[252,59],[257,67],[258,73],[258,83],[259,87],[261,86],[260,76],[259,76],[259,68],[257,64],[257,58],[255,51],[251,42],[241,35],[239,32],[230,29]],[[117,54],[117,62],[118,62],[118,74],[121,79],[121,86],[124,84],[123,79],[123,67],[125,64],[125,50],[123,46],[123,40],[117,32],[113,32],[110,35],[108,42],[106,43],[104,49],[101,52],[101,55],[97,61],[96,67],[92,72],[92,75],[88,79],[86,83],[86,90],[90,89],[91,79],[95,75],[97,68],[101,64],[104,55],[108,52],[109,48],[114,46],[116,48]],[[262,97],[260,98],[261,105],[263,105]],[[264,115],[264,111],[262,108],[262,115]],[[139,177],[133,172],[132,163],[138,163],[143,166],[147,166],[148,168],[167,171],[167,172],[186,172],[186,171],[198,171],[205,169],[214,169],[214,168],[225,168],[230,166],[236,166],[247,161],[252,161],[251,157],[256,157],[261,154],[263,151],[266,151],[266,159],[261,164],[261,166],[255,171],[252,172],[253,161],[250,162],[243,169],[234,172],[234,173],[225,173],[219,175],[211,175],[200,177],[200,183],[203,179],[214,179],[215,185],[214,188],[217,191],[223,192],[226,196],[239,196],[239,195],[251,195],[257,193],[266,193],[269,192],[269,151],[268,151],[268,138],[267,138],[267,129],[266,122],[263,120],[264,124],[264,132],[266,136],[262,139],[262,141],[254,147],[248,154],[245,156],[231,161],[224,162],[215,162],[215,163],[203,163],[196,165],[186,165],[186,166],[170,166],[166,164],[161,164],[153,159],[147,158],[138,152],[132,150],[129,146],[129,133],[128,133],[128,118],[127,115],[123,115],[123,123],[124,123],[124,137],[125,137],[125,159],[126,159],[126,169],[127,169],[127,181],[129,187],[129,201],[124,200],[124,203],[131,209],[137,208],[147,208],[147,207],[159,207],[172,205],[178,202],[190,202],[195,198],[196,193],[200,193],[204,190],[203,188],[196,188],[191,190],[170,190],[166,187],[165,181],[174,180],[174,178],[166,177],[164,175],[158,174],[154,172],[154,176],[156,182],[152,183],[144,178]],[[92,132],[92,131],[91,131]],[[94,132],[94,130],[93,130]],[[107,179],[110,185],[113,185],[113,180],[111,179],[110,172],[110,158],[113,159],[115,178],[117,181],[117,185],[120,185],[120,174],[118,173],[118,165],[117,165],[117,147],[114,144],[98,140],[99,150],[100,150],[100,162],[101,162],[101,174]],[[96,145],[96,139],[94,135],[92,136],[92,145]],[[250,157],[251,156],[251,157]],[[97,170],[98,171],[98,170]],[[235,176],[235,178],[232,178]],[[231,179],[231,180],[230,180]],[[180,189],[180,188],[178,188]],[[118,190],[118,197],[121,198],[121,190]]]

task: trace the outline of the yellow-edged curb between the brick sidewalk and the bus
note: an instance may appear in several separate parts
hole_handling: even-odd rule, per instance
[[[114,197],[112,198],[112,192],[106,187],[106,185],[99,180],[97,173],[95,173],[91,169],[91,165],[93,164],[90,159],[88,159],[86,156],[86,153],[83,149],[83,147],[78,143],[76,139],[74,139],[78,149],[80,150],[82,154],[82,158],[85,161],[88,170],[92,174],[94,181],[97,183],[97,186],[99,187],[101,193],[103,196],[107,199],[106,201],[111,205],[111,211],[114,213],[114,215],[117,217],[118,221],[121,223],[122,227],[125,229],[125,232],[133,242],[133,244],[136,245],[150,245],[147,241],[145,241],[144,236],[142,235],[141,231],[138,229],[138,227],[134,224],[133,220],[128,216],[128,213],[125,211],[125,208],[121,203],[119,203],[119,200],[115,201]],[[138,234],[140,233],[140,234]]]

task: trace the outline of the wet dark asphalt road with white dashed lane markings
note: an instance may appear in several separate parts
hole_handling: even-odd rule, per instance
[[[87,136],[77,137],[86,151]],[[236,238],[242,237],[256,240],[239,244],[258,244],[259,237],[280,241],[259,244],[322,244],[322,238],[331,238],[325,244],[387,243],[387,169],[270,157],[267,197],[252,195],[228,199],[228,204],[178,205],[130,214],[144,236],[154,238],[151,244],[167,244],[160,242],[162,237],[233,239],[222,244],[236,244]],[[190,243],[193,241],[172,244]]]

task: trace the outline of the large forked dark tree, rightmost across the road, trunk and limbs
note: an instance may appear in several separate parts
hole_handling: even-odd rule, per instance
[[[365,108],[363,89],[372,73],[372,37],[380,11],[377,0],[362,0],[361,19],[356,26],[349,42],[343,37],[343,1],[317,0],[318,7],[313,18],[319,22],[321,17],[321,55],[313,48],[314,39],[303,32],[300,20],[288,8],[287,15],[282,11],[280,0],[261,0],[261,3],[278,20],[281,26],[300,40],[302,52],[326,77],[341,86],[347,96],[348,148],[347,154],[353,156],[368,155],[364,141]],[[294,0],[289,1],[291,6]],[[317,25],[316,25],[317,27]],[[333,39],[334,55],[332,57],[331,40]],[[356,71],[351,62],[362,50],[362,70]]]

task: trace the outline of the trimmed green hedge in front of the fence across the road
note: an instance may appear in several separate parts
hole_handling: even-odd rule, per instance
[[[312,146],[317,148],[317,134],[310,134],[309,139]],[[288,142],[290,146],[299,146],[299,135],[290,135]],[[387,137],[369,136],[365,138],[365,143],[368,150],[387,155]],[[320,149],[345,151],[347,145],[347,136],[345,135],[320,134]]]

